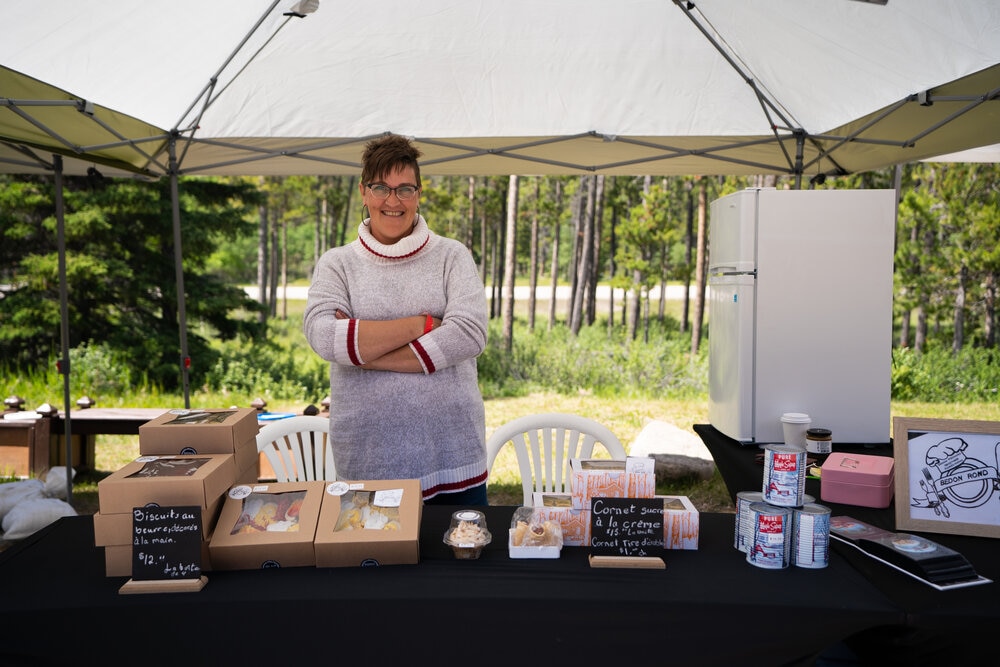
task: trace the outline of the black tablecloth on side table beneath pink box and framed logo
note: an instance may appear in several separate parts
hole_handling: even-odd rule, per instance
[[[761,490],[764,469],[757,460],[760,453],[757,446],[741,444],[708,424],[696,424],[694,430],[711,452],[734,499],[739,491]],[[874,456],[893,455],[892,443],[837,444],[835,448]],[[815,479],[806,480],[806,493],[828,506],[833,516],[852,516],[886,530],[896,530],[895,504],[888,508],[869,508],[827,502],[822,499],[820,481]],[[993,583],[938,591],[853,547],[835,542],[833,550],[903,610],[907,630],[897,633],[898,643],[901,650],[909,651],[914,660],[920,661],[912,664],[933,664],[935,660],[945,659],[949,664],[970,664],[980,657],[984,664],[987,664],[987,657],[988,664],[995,664],[996,650],[991,648],[991,633],[1000,622],[1000,583],[997,583],[1000,582],[1000,542],[987,537],[905,532],[924,535],[955,549],[972,563],[976,572],[992,579]],[[878,642],[886,635],[880,632],[857,640]],[[965,662],[956,661],[962,656]]]

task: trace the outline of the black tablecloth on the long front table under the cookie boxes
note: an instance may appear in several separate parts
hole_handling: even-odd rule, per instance
[[[105,576],[91,517],[60,519],[0,554],[0,664],[813,664],[905,620],[836,554],[822,570],[747,563],[731,514],[702,514],[699,549],[664,551],[665,569],[629,570],[579,547],[510,559],[513,507],[488,508],[494,542],[456,560],[454,509],[424,508],[415,565],[208,572],[201,591],[148,595]]]

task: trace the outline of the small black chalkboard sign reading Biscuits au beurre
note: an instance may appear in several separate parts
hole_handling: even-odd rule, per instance
[[[201,508],[132,509],[132,579],[201,577]]]

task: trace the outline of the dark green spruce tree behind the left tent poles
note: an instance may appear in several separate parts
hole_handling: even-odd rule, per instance
[[[5,178],[0,187],[0,357],[37,369],[60,347],[58,250],[53,184]],[[242,181],[183,179],[184,286],[191,378],[212,366],[213,339],[252,336],[241,311],[255,304],[207,270],[220,244],[251,233],[255,189]],[[170,183],[66,178],[64,187],[69,345],[106,346],[137,376],[180,384],[179,311]]]

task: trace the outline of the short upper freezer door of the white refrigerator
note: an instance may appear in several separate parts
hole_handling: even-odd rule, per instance
[[[757,199],[760,189],[734,192],[709,205],[710,275],[750,273],[757,267]]]

